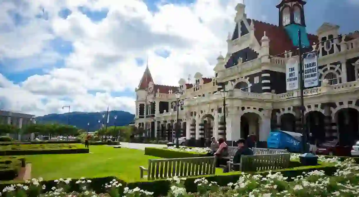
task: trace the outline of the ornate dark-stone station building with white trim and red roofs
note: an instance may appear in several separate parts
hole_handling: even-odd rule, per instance
[[[152,138],[169,140],[178,111],[181,136],[190,146],[203,146],[211,136],[231,141],[254,134],[266,141],[271,129],[300,132],[303,109],[306,134],[353,144],[359,139],[359,32],[343,35],[338,25],[324,23],[316,35],[308,34],[306,23],[313,19],[304,17],[305,5],[281,1],[274,25],[247,18],[245,5],[238,4],[234,29],[224,40],[227,53],[217,58],[211,78],[197,72],[193,83],[180,79],[178,86],[158,85],[147,67],[135,89],[135,125]],[[298,32],[304,52],[318,57],[313,71],[318,85],[304,89],[303,108],[298,88],[288,90],[286,84],[289,60],[299,60]],[[225,113],[222,90],[228,91]],[[182,94],[179,109],[175,92]]]

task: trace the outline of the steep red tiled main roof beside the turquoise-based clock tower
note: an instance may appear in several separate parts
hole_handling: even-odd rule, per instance
[[[290,51],[296,49],[297,47],[293,46],[292,40],[290,40],[288,34],[286,33],[283,27],[277,25],[264,23],[258,20],[252,20],[254,23],[255,32],[254,35],[259,43],[266,32],[266,36],[269,38],[269,54],[271,56],[284,53],[285,51]],[[316,35],[308,34],[309,43],[318,42],[318,37]],[[284,56],[282,56],[284,57]]]

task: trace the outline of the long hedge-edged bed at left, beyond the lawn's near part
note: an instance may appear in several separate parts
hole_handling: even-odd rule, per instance
[[[0,155],[88,153],[82,144],[13,144],[0,146]]]

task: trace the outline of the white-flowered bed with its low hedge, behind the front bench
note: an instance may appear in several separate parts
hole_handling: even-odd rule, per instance
[[[164,147],[164,148],[145,148],[145,155],[151,155],[154,157],[162,157],[166,159],[173,158],[189,158],[189,157],[206,157],[206,151],[201,148],[173,148],[173,147]]]

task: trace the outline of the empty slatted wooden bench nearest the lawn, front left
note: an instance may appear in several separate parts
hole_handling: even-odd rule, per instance
[[[149,159],[148,168],[140,166],[140,178],[148,180],[214,174],[215,157]],[[147,172],[147,176],[144,175]]]

